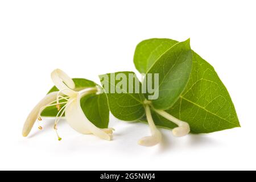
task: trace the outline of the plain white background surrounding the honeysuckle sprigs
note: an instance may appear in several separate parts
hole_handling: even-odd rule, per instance
[[[0,169],[256,169],[255,1],[0,1]],[[97,75],[135,71],[133,53],[148,38],[191,38],[216,68],[241,128],[137,140],[147,125],[110,118],[114,140],[81,135],[53,120],[28,138],[23,122],[52,86],[51,71],[98,82]]]

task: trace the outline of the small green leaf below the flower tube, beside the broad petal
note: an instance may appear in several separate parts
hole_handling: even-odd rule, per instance
[[[82,111],[95,126],[105,129],[109,125],[109,106],[106,94],[91,94],[81,98]]]

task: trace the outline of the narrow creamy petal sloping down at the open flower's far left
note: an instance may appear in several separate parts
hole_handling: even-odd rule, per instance
[[[38,119],[38,113],[40,111],[40,108],[43,106],[46,106],[50,104],[51,102],[56,100],[57,92],[49,93],[46,97],[43,98],[30,112],[30,114],[27,117],[26,122],[24,123],[22,135],[23,137],[27,137],[27,135],[30,133],[36,119]]]

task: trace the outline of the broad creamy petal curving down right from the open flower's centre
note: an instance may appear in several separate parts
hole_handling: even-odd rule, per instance
[[[65,110],[65,118],[69,125],[81,134],[94,134],[105,140],[112,139],[112,129],[99,129],[91,123],[81,109],[80,97],[69,101]]]

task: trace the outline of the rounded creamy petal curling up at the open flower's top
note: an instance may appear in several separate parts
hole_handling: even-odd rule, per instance
[[[76,94],[76,92],[73,91],[73,89],[75,89],[75,83],[72,78],[61,71],[61,69],[55,69],[51,73],[51,78],[57,89],[61,90],[65,95],[72,97]]]

